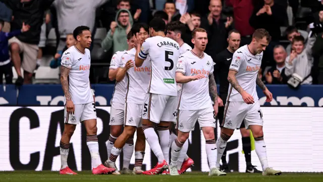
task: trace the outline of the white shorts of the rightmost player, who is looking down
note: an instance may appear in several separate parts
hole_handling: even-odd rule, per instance
[[[224,122],[222,126],[229,129],[236,129],[241,126],[244,120],[246,129],[250,129],[250,125],[263,125],[262,112],[259,101],[253,104],[245,102],[230,102],[225,105]]]

